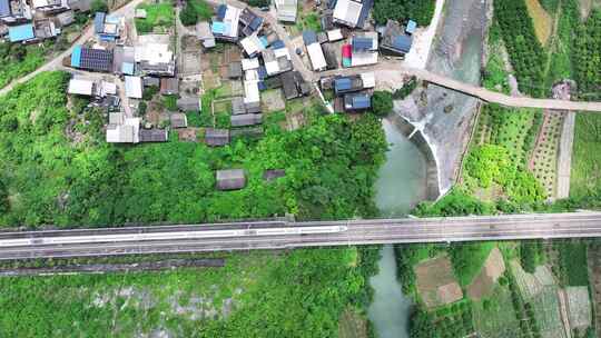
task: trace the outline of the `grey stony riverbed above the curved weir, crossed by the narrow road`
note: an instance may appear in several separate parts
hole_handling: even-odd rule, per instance
[[[481,1],[446,3],[439,39],[427,69],[469,83],[480,83],[480,64],[487,22],[487,4]],[[437,193],[444,195],[455,182],[461,159],[467,147],[479,101],[463,93],[434,84],[423,84],[404,100],[396,101],[394,112],[418,132],[416,145],[426,143],[436,165]],[[417,136],[417,137],[415,137]],[[414,139],[415,138],[415,139]],[[423,148],[424,146],[420,146]],[[428,169],[434,170],[434,169]],[[434,188],[428,179],[428,197]]]

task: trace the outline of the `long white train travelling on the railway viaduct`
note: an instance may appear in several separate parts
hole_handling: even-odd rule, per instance
[[[149,240],[178,240],[178,239],[205,239],[205,238],[230,238],[254,236],[287,236],[287,235],[315,235],[335,233],[346,231],[346,226],[323,227],[289,227],[240,230],[196,230],[174,232],[149,233],[119,233],[119,235],[90,235],[90,236],[62,236],[62,237],[37,237],[0,240],[0,248],[28,247],[46,245],[85,245],[101,242],[149,241]]]

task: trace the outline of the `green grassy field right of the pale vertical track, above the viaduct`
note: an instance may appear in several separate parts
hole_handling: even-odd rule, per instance
[[[575,198],[601,191],[601,116],[577,115],[570,177],[570,196]]]

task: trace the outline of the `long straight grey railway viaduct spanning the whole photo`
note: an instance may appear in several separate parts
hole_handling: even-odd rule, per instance
[[[0,232],[0,260],[601,237],[601,212]]]

